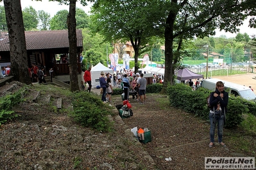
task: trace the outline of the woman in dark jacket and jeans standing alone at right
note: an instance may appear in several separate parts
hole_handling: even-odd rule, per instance
[[[218,124],[218,143],[226,146],[222,141],[223,125],[225,123],[226,106],[228,105],[228,93],[224,91],[224,84],[221,81],[216,82],[216,90],[210,93],[210,144],[214,145],[214,134],[216,123]]]

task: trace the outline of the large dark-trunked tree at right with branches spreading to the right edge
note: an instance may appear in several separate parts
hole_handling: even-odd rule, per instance
[[[168,5],[169,4],[169,5]],[[246,15],[242,15],[248,10],[248,4],[255,4],[248,1],[168,1],[167,5],[162,5],[162,9],[167,10],[165,23],[165,58],[166,69],[164,77],[165,91],[167,84],[173,84],[173,74],[175,65],[180,59],[180,49],[184,39],[194,36],[204,37],[214,35],[214,30],[219,27],[221,30],[231,33],[237,32],[236,26],[243,23]],[[254,5],[255,9],[255,5]],[[174,49],[174,43],[177,46]]]

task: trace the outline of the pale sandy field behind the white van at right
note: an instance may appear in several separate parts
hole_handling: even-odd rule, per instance
[[[221,79],[223,81],[234,82],[244,86],[252,86],[252,89],[255,89],[253,92],[256,94],[256,73],[246,73],[246,74],[237,74],[237,75],[228,75],[228,76],[212,76],[214,79]]]

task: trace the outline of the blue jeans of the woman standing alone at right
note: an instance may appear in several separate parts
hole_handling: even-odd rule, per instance
[[[209,113],[210,118],[210,142],[214,143],[214,134],[216,123],[218,123],[218,142],[222,142],[222,134],[223,134],[223,125],[224,125],[224,115],[215,116],[214,113]],[[214,120],[215,119],[215,120]]]

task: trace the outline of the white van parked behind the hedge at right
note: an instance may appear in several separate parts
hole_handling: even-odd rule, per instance
[[[201,83],[201,87],[215,91],[216,82],[218,81],[222,81],[224,83],[225,91],[229,94],[233,94],[235,96],[239,96],[247,100],[256,99],[256,95],[253,93],[252,89],[241,84],[235,84],[233,82],[223,81],[220,79],[204,79],[203,82]],[[229,90],[227,90],[227,88]]]

